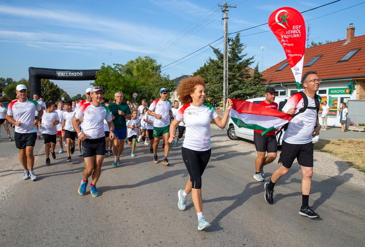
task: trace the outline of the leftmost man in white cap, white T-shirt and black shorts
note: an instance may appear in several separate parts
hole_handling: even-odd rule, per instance
[[[18,99],[9,103],[6,120],[15,125],[14,139],[19,149],[20,163],[24,168],[23,179],[30,177],[32,181],[36,181],[33,150],[37,139],[37,125],[39,118],[43,116],[43,110],[37,101],[27,98],[25,85],[19,84],[16,90]]]

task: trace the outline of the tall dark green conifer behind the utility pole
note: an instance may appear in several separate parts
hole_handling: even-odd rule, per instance
[[[245,45],[241,43],[239,33],[231,39],[228,50],[228,97],[246,100],[262,96],[265,81],[258,65],[253,72],[250,65],[254,63],[254,57],[247,57],[243,53]],[[223,98],[223,53],[212,47],[216,59],[209,58],[207,62],[194,75],[201,75],[207,84],[206,101],[214,107],[218,107]]]

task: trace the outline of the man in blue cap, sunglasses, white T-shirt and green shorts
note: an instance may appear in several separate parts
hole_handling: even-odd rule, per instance
[[[166,88],[160,89],[160,99],[152,102],[149,106],[147,114],[155,117],[153,121],[153,162],[158,163],[157,148],[160,139],[164,137],[164,159],[162,163],[164,165],[169,165],[167,155],[170,151],[170,143],[168,139],[170,138],[170,118],[172,117],[172,104],[168,97],[168,90]]]

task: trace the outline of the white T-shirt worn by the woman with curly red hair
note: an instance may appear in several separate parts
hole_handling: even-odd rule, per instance
[[[206,151],[210,145],[210,121],[218,117],[213,106],[202,104],[192,106],[191,103],[179,108],[176,119],[185,122],[185,138],[183,147],[195,150]]]

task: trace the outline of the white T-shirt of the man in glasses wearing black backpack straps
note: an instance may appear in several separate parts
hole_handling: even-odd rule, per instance
[[[307,96],[308,98],[308,96]],[[308,106],[315,107],[314,98],[308,98]],[[300,93],[296,93],[289,98],[282,111],[296,108],[296,112],[304,107],[303,98]],[[306,144],[312,141],[314,125],[316,123],[317,111],[306,109],[289,121],[288,129],[284,132],[283,140],[291,144]],[[185,137],[186,138],[186,137]]]

